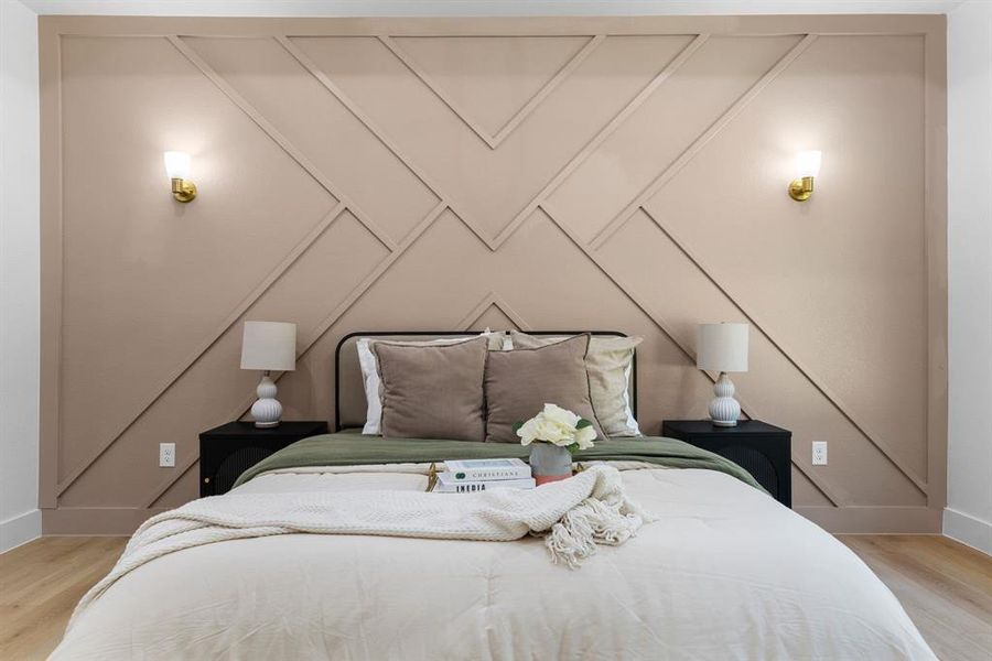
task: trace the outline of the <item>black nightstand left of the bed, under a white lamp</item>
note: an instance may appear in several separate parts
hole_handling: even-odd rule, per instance
[[[322,421],[281,422],[259,429],[254,422],[228,422],[200,435],[200,496],[226,494],[248,468],[308,436],[327,433]]]

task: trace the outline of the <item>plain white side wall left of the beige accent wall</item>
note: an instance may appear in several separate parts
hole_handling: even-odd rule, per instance
[[[37,509],[37,17],[0,0],[0,552],[41,534]]]

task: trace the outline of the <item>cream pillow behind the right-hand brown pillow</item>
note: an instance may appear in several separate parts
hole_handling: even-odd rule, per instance
[[[565,337],[537,337],[510,332],[514,349],[548,346]],[[640,427],[630,409],[630,369],[634,347],[643,337],[612,337],[595,335],[585,355],[589,390],[596,418],[607,436],[640,436]]]

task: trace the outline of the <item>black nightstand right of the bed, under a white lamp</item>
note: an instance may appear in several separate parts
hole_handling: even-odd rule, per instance
[[[786,507],[792,507],[792,432],[759,420],[716,426],[709,420],[669,420],[661,435],[709,449],[742,466]]]

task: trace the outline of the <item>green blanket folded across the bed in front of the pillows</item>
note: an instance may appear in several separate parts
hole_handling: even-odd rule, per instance
[[[526,459],[530,448],[516,443],[474,443],[424,438],[382,438],[359,434],[322,434],[311,436],[262,459],[241,474],[235,486],[257,475],[278,468],[302,466],[352,466],[367,464],[430,463],[444,459],[487,459],[519,457]],[[736,477],[752,487],[762,487],[750,473],[720,455],[676,441],[641,436],[610,438],[595,447],[575,453],[575,462],[594,460],[647,462],[670,468],[704,468]],[[764,490],[764,489],[763,489]]]

